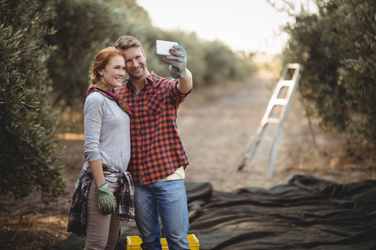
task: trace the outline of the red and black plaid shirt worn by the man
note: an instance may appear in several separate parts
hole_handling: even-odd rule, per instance
[[[127,169],[134,185],[155,183],[189,164],[178,135],[176,116],[180,103],[190,92],[181,94],[177,83],[173,78],[151,72],[139,94],[134,92],[129,78],[117,90],[134,113],[130,125],[132,153]]]

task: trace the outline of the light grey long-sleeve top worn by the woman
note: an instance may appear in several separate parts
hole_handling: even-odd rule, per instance
[[[89,162],[126,172],[130,162],[130,117],[118,104],[99,92],[86,97],[84,106],[84,154]]]

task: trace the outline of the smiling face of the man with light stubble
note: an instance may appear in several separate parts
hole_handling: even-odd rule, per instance
[[[139,47],[122,49],[125,58],[125,70],[130,78],[146,78],[149,75],[146,67],[146,53]]]

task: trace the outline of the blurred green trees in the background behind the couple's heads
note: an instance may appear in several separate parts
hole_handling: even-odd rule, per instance
[[[57,32],[47,40],[56,50],[49,59],[57,102],[75,106],[83,101],[88,67],[95,54],[113,46],[120,35],[133,35],[146,51],[148,69],[169,77],[162,56],[155,53],[155,40],[178,42],[187,51],[187,67],[194,85],[221,83],[255,71],[251,58],[240,58],[221,42],[203,41],[196,33],[163,31],[151,24],[148,12],[135,0],[53,0],[56,17],[50,23]],[[173,22],[171,20],[171,22]],[[71,90],[67,92],[67,88]]]

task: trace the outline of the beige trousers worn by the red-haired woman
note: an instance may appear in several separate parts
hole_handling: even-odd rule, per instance
[[[120,183],[110,183],[109,189],[112,194],[119,192]],[[117,197],[116,194],[114,194]],[[120,222],[116,219],[116,213],[103,215],[98,208],[98,195],[95,190],[95,181],[91,181],[86,201],[86,213],[88,216],[86,227],[86,245],[84,250],[112,250],[118,240]]]

